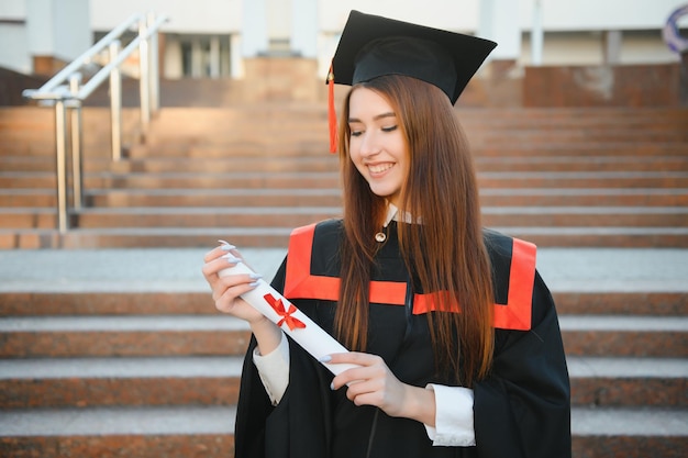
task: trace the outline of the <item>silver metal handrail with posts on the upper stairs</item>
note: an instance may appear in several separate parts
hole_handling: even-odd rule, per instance
[[[159,108],[158,80],[158,48],[157,32],[168,20],[165,15],[155,16],[154,13],[133,14],[126,21],[114,27],[98,43],[58,71],[38,89],[25,89],[22,96],[37,101],[40,104],[55,107],[55,156],[57,175],[57,225],[60,233],[69,228],[67,210],[67,144],[71,145],[71,182],[74,208],[80,210],[84,202],[84,187],[81,177],[81,104],[106,80],[110,79],[110,114],[111,114],[111,147],[112,160],[122,158],[122,78],[120,66],[136,48],[140,53],[140,96],[141,124],[145,134],[148,129],[152,112]],[[138,34],[124,48],[120,49],[120,37],[132,26],[138,25]],[[85,66],[90,64],[96,55],[109,48],[110,62],[104,65],[86,83],[81,85],[81,74]],[[67,110],[71,114],[71,129],[67,132]]]

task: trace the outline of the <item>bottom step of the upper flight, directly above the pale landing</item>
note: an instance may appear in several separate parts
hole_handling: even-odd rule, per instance
[[[312,220],[310,222],[313,222]],[[0,228],[0,249],[207,247],[230,238],[243,247],[285,248],[292,227]],[[688,248],[685,227],[492,227],[540,247]]]

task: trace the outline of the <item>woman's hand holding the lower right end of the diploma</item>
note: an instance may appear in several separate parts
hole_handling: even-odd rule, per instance
[[[359,366],[343,371],[332,380],[334,390],[348,386],[346,396],[354,404],[375,405],[389,416],[402,416],[434,425],[434,393],[399,381],[379,356],[341,353],[331,355],[329,362]]]

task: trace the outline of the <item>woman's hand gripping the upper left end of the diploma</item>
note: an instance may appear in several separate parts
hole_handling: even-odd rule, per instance
[[[256,280],[260,278],[259,275],[240,273],[220,276],[220,271],[243,261],[241,254],[234,246],[221,242],[219,247],[206,255],[203,261],[203,277],[206,277],[206,281],[210,284],[212,299],[215,301],[215,308],[220,312],[245,320],[251,323],[252,326],[267,321],[260,312],[241,298],[243,293],[256,287]]]

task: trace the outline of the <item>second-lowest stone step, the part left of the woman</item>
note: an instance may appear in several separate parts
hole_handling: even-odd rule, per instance
[[[0,405],[233,405],[242,362],[240,356],[5,359]]]

